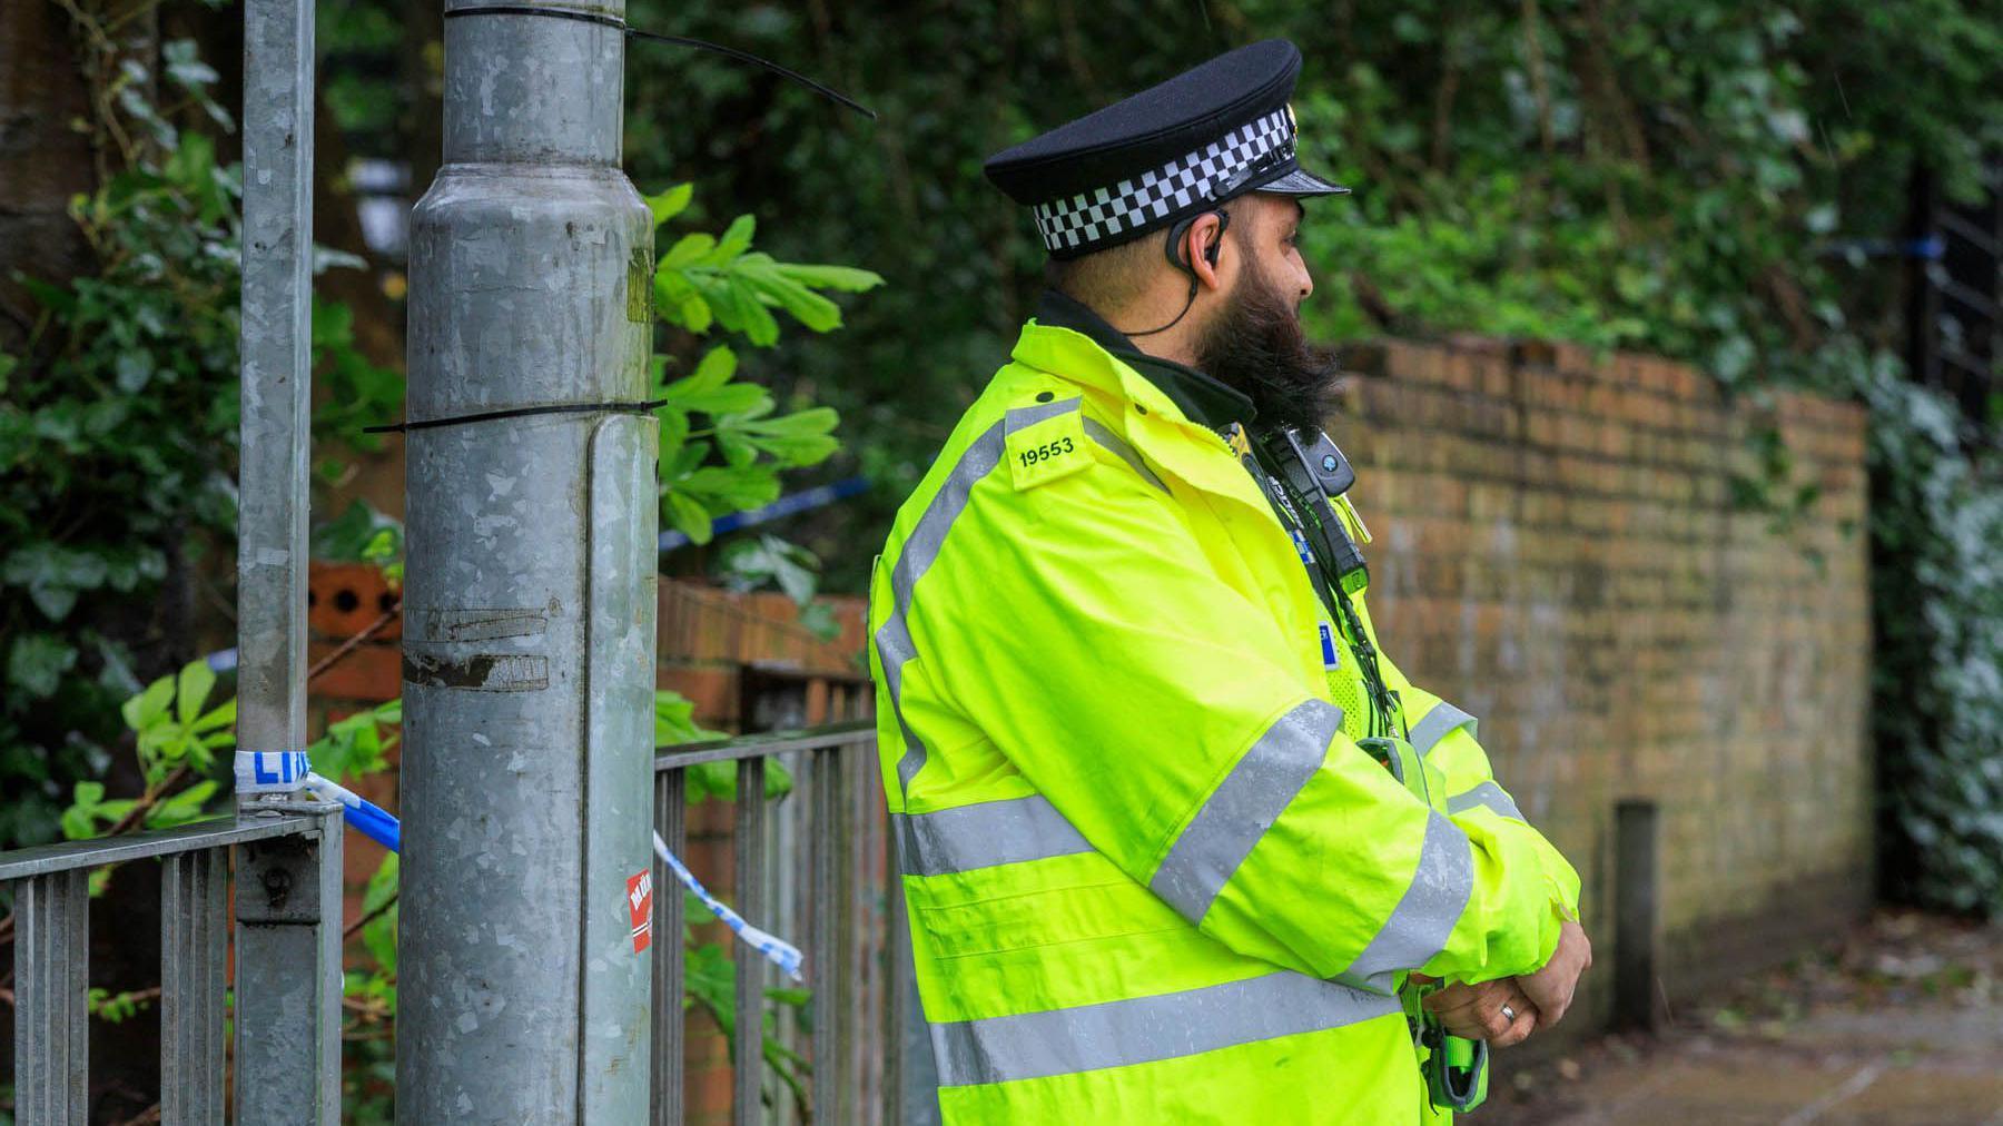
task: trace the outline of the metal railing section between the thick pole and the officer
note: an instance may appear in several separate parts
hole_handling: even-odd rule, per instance
[[[813,992],[805,1036],[785,1020],[775,1030],[785,1050],[809,1060],[801,1114],[785,1086],[767,1088],[763,1018],[765,988],[777,984],[773,968],[751,946],[731,942],[737,990],[731,1120],[923,1118],[905,1110],[913,1100],[907,1088],[917,1090],[917,1104],[929,1102],[923,1090],[929,1060],[913,1060],[905,1038],[915,1004],[909,938],[877,781],[873,721],[669,747],[655,759],[655,829],[677,856],[687,856],[689,843],[687,769],[715,761],[737,769],[733,906],[783,938],[805,938]],[[793,775],[793,793],[777,803],[763,797],[773,761]],[[677,1124],[685,1112],[681,888],[657,886],[653,904],[653,1122]],[[775,1090],[769,1110],[765,1090]]]

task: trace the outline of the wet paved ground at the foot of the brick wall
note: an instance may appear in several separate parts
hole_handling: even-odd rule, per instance
[[[1472,1126],[2003,1126],[2003,926],[1887,912],[1658,1036],[1504,1066]]]

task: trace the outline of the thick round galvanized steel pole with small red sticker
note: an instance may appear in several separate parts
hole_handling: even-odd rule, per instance
[[[623,4],[447,0],[411,220],[401,1122],[643,1122],[653,224]],[[463,14],[455,14],[465,10]],[[557,411],[551,411],[557,409]],[[675,942],[677,936],[655,936]]]

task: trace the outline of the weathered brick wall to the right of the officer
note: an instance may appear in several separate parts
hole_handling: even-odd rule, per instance
[[[1564,345],[1354,349],[1338,445],[1370,605],[1416,681],[1578,866],[1610,1008],[1614,803],[1660,809],[1664,996],[1791,954],[1871,892],[1865,413],[1729,405],[1703,373]],[[1789,529],[1737,511],[1779,425]],[[1582,1022],[1580,1022],[1582,1024]]]

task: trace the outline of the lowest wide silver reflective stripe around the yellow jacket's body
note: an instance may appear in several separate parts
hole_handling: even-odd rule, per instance
[[[933,1024],[931,1050],[939,1086],[1002,1084],[1174,1060],[1400,1012],[1398,998],[1280,972],[1152,998]]]

